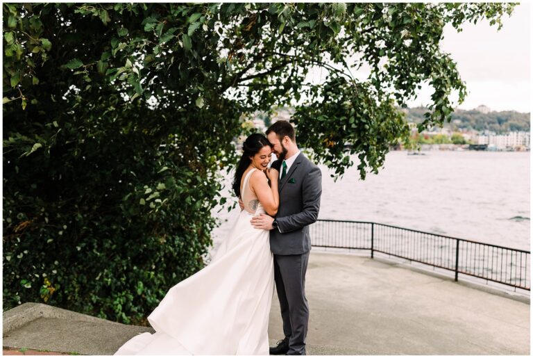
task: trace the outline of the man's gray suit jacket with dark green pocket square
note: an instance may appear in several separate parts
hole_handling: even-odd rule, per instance
[[[282,161],[272,163],[280,170]],[[280,170],[281,171],[281,170]],[[270,231],[273,254],[294,255],[311,250],[309,226],[319,217],[322,173],[303,153],[298,154],[289,172],[279,181],[278,229]]]

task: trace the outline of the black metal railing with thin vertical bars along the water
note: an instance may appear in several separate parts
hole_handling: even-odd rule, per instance
[[[376,222],[318,220],[315,247],[370,250],[530,291],[530,252]]]

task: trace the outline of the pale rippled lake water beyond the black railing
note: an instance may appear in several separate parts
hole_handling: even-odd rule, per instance
[[[354,167],[334,182],[332,172],[320,166],[319,218],[379,222],[530,250],[529,152],[425,154],[390,152],[379,174],[364,181]],[[226,183],[229,188],[229,177]],[[236,211],[213,214],[227,220],[214,230],[217,247]]]

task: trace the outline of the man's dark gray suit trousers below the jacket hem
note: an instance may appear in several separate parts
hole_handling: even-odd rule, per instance
[[[309,252],[274,255],[274,280],[280,300],[283,333],[289,339],[287,355],[305,355],[309,305],[305,298],[305,272]]]

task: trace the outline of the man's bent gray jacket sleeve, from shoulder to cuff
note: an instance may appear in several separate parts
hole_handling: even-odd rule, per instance
[[[322,173],[318,167],[313,166],[302,182],[303,209],[300,213],[276,218],[280,232],[295,231],[316,222],[319,218],[321,195]]]

